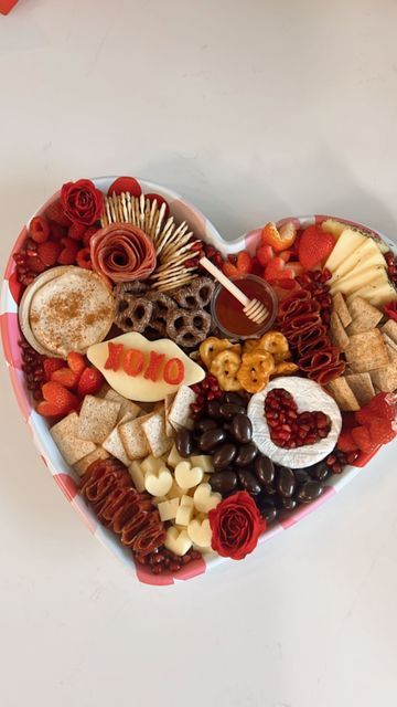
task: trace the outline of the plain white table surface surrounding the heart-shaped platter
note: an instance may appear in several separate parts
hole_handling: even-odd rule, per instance
[[[227,238],[396,234],[391,0],[20,0],[0,15],[4,260],[69,179],[138,175]],[[1,370],[1,707],[373,707],[397,688],[397,445],[244,563],[136,583],[37,457]]]

